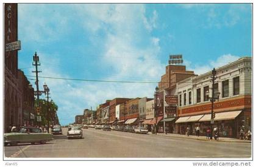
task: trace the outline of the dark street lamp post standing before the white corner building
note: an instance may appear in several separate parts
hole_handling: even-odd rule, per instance
[[[211,107],[211,109],[212,109],[212,111],[211,111],[211,134],[210,134],[210,139],[211,140],[213,139],[213,124],[214,124],[214,118],[215,118],[215,114],[213,112],[213,107],[214,107],[213,103],[215,102],[215,100],[219,100],[219,95],[220,95],[220,93],[217,92],[216,93],[216,97],[215,97],[215,87],[214,87],[214,85],[215,85],[215,80],[217,78],[215,76],[216,75],[215,68],[213,68],[212,74],[213,74],[213,77],[211,77],[212,78],[212,97],[209,97],[209,99],[210,99],[210,101],[212,103],[212,107]],[[208,90],[205,92],[205,95],[207,95],[207,96],[210,95]]]

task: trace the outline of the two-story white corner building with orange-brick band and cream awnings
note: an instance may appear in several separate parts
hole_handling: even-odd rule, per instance
[[[212,71],[190,77],[177,83],[179,109],[176,120],[177,131],[192,133],[200,126],[201,134],[210,127],[212,90],[214,89],[214,126],[220,135],[238,137],[240,128],[251,129],[252,121],[252,58],[243,57],[216,69],[216,80],[212,86]],[[219,92],[219,97],[217,97]],[[210,95],[210,97],[209,97]]]

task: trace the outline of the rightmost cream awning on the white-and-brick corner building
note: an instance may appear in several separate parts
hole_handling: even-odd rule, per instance
[[[219,120],[234,120],[242,111],[229,111],[215,113],[215,121]],[[210,121],[211,114],[205,114],[199,121]]]

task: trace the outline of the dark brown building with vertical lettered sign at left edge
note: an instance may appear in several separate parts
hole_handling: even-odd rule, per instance
[[[4,4],[4,46],[18,41],[18,4]],[[18,50],[4,47],[4,132],[22,123],[21,90],[18,87]]]

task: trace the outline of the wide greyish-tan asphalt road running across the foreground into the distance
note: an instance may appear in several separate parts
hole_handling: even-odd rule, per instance
[[[54,135],[42,145],[5,146],[5,157],[29,158],[249,158],[251,143],[200,141],[129,132],[83,129],[84,138]]]

